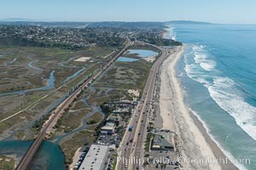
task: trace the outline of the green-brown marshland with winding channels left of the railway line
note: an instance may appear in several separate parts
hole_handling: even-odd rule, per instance
[[[0,67],[0,94],[44,87],[47,85],[49,73],[55,71],[55,86],[49,90],[33,91],[25,95],[0,96],[0,121],[29,106],[18,116],[0,122],[0,133],[3,134],[6,130],[18,130],[20,127],[27,126],[29,122],[38,120],[49,111],[50,107],[53,107],[55,101],[68,94],[73,86],[84,81],[94,68],[98,68],[97,65],[100,65],[105,60],[105,56],[112,53],[113,50],[114,48],[70,50],[63,48],[0,47],[0,54],[3,55],[0,58],[2,64]],[[73,61],[80,57],[90,57],[90,61]],[[30,64],[38,69],[30,67]],[[78,77],[70,79],[63,86],[62,82],[67,77],[82,68],[85,68],[84,72],[80,73]],[[42,99],[48,94],[49,96]],[[33,132],[28,134],[30,136],[27,139],[30,139]],[[20,136],[20,134],[16,136]]]

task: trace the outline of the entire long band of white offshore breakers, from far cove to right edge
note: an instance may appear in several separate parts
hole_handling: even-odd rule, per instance
[[[204,52],[201,48],[203,47],[195,46],[192,48],[192,53],[184,55],[185,71],[188,77],[201,82],[208,89],[212,99],[230,116],[233,116],[236,124],[252,139],[256,140],[256,108],[245,101],[239,89],[236,88],[236,82],[229,77],[212,74],[213,69],[217,71],[214,68],[214,61],[207,59],[208,52]],[[194,57],[194,63],[192,57]]]

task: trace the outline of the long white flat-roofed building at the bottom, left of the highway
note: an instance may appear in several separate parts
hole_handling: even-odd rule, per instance
[[[108,161],[108,145],[91,144],[79,170],[102,170]]]

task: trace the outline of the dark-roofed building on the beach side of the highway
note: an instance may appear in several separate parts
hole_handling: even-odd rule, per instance
[[[174,150],[174,145],[167,141],[163,135],[154,134],[151,150]]]

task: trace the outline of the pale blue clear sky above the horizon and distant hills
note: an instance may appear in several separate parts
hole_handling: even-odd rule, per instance
[[[0,20],[256,24],[255,0],[0,0]]]

